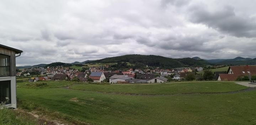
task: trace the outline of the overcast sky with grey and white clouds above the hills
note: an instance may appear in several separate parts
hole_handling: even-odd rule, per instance
[[[17,66],[126,54],[256,58],[256,0],[1,0]]]

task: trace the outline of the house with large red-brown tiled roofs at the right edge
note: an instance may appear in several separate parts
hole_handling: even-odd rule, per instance
[[[219,74],[218,81],[236,81],[241,76],[256,75],[256,66],[229,66],[227,74]]]

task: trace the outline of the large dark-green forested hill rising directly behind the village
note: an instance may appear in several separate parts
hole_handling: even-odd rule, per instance
[[[148,66],[159,66],[165,68],[188,67],[209,65],[205,60],[195,60],[192,58],[172,59],[157,55],[123,55],[100,60],[88,61],[86,63],[119,63],[129,62],[131,64],[143,63]]]

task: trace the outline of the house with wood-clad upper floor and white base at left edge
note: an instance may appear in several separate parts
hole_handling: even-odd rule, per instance
[[[17,108],[15,62],[22,52],[0,44],[0,102],[6,102],[5,107]]]

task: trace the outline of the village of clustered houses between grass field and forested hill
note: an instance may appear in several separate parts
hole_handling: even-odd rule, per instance
[[[89,70],[77,70],[70,67],[33,67],[20,70],[17,77],[29,77],[33,73],[37,76],[31,77],[29,82],[37,81],[76,81],[79,82],[107,82],[107,83],[164,83],[170,81],[180,81],[185,79],[188,73],[203,71],[202,67],[189,67],[177,69],[129,69],[126,71],[106,71],[104,66],[90,67]]]

